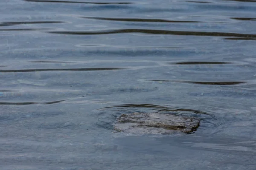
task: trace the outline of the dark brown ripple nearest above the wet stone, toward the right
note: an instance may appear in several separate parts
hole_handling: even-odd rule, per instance
[[[183,80],[158,80],[152,79],[150,81],[154,82],[182,82],[182,83],[190,83],[190,84],[199,84],[199,85],[237,85],[246,82],[239,81],[230,81],[230,82],[195,82],[195,81],[183,81]]]

